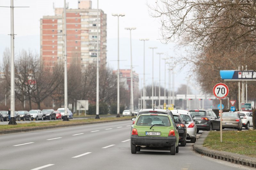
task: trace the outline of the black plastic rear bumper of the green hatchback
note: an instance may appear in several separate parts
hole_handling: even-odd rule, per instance
[[[138,146],[170,147],[175,145],[176,137],[141,137],[138,135],[131,135],[131,142]]]

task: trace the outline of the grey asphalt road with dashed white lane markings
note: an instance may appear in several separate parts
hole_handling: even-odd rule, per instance
[[[131,123],[108,122],[1,135],[0,169],[251,169],[201,156],[189,142],[180,146],[176,155],[142,149],[131,154]]]

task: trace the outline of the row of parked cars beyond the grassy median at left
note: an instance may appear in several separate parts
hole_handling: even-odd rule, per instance
[[[29,112],[27,110],[20,110],[15,111],[14,118],[15,121],[20,120],[56,120],[56,119],[63,119],[65,115],[65,108],[58,108],[58,110],[54,109],[37,109],[37,110],[30,110]],[[73,113],[68,109],[68,117],[69,119],[73,119]],[[0,120],[3,121],[9,121],[8,117],[8,111],[1,110],[0,111]]]

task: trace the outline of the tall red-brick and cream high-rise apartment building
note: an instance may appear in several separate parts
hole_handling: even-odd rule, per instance
[[[91,1],[78,1],[78,9],[66,9],[67,64],[86,67],[97,62],[97,9]],[[64,62],[64,8],[40,20],[40,56],[44,65]],[[106,65],[107,15],[99,9],[99,63]]]

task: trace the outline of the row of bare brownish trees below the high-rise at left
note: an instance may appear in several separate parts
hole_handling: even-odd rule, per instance
[[[22,51],[15,56],[15,99],[16,106],[24,108],[24,102],[28,101],[28,109],[35,106],[41,109],[52,107],[52,101],[56,107],[64,103],[64,68],[63,64],[54,67],[44,65],[36,53]],[[4,101],[10,95],[10,52],[4,51],[4,62],[1,65],[0,101]],[[100,103],[107,107],[116,103],[117,78],[109,67],[100,67]],[[76,103],[76,100],[89,100],[93,106],[96,102],[96,65],[91,64],[81,67],[73,62],[68,67],[68,103]],[[18,102],[20,101],[20,102]],[[27,103],[27,102],[26,102]],[[129,106],[130,94],[120,84],[120,105]],[[112,109],[114,110],[114,109]],[[106,112],[105,110],[103,112]]]

